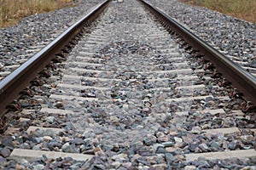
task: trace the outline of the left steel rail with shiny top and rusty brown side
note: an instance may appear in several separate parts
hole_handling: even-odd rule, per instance
[[[31,59],[28,59],[23,65],[20,65],[14,72],[9,74],[0,82],[0,116],[7,111],[6,105],[9,105],[14,99],[19,97],[21,90],[26,88],[29,83],[42,71],[45,65],[48,65],[50,60],[55,57],[55,54],[61,52],[72,39],[84,27],[107,7],[109,0],[104,0],[98,4],[96,8],[86,14],[81,20],[70,26],[67,31],[64,31],[59,37],[55,38],[45,48],[35,54]]]

